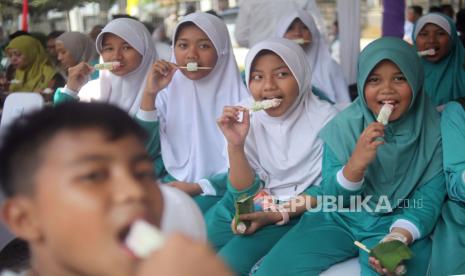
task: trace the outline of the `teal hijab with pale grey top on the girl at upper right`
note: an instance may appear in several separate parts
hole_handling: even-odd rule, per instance
[[[458,38],[457,29],[450,17],[430,13],[421,17],[413,29],[416,44],[418,32],[428,23],[433,23],[449,33],[451,48],[439,62],[433,63],[422,58],[425,69],[425,91],[434,105],[442,105],[465,96],[465,50]]]

